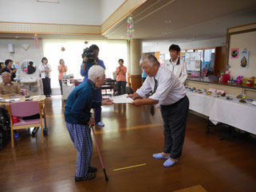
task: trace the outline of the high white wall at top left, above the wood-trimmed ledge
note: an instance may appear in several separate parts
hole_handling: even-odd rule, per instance
[[[124,0],[0,0],[0,22],[101,25]]]

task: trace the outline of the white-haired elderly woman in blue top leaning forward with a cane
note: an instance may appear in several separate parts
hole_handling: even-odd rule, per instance
[[[88,72],[89,80],[79,84],[69,94],[65,104],[65,123],[69,135],[77,149],[77,172],[75,181],[81,182],[95,178],[96,167],[91,167],[93,143],[90,127],[93,126],[91,109],[104,104],[112,104],[112,100],[95,101],[93,94],[96,88],[104,83],[104,69],[93,65]]]

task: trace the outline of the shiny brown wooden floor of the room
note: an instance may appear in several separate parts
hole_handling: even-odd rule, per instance
[[[160,111],[149,115],[147,106],[103,107],[105,127],[96,127],[109,181],[104,181],[100,159],[93,145],[96,178],[74,182],[77,152],[65,128],[61,97],[46,99],[49,135],[41,145],[40,131],[32,137],[20,131],[14,150],[10,143],[0,151],[0,191],[167,192],[202,186],[208,192],[256,191],[256,139],[219,140],[225,127],[205,133],[207,121],[189,114],[182,158],[174,167],[153,159],[162,151]],[[116,170],[122,167],[132,167]]]

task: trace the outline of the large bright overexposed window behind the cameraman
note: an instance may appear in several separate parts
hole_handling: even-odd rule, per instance
[[[44,57],[49,61],[52,67],[51,86],[59,88],[57,65],[60,59],[65,61],[68,67],[67,74],[73,74],[76,79],[83,79],[80,75],[82,58],[81,54],[85,47],[96,44],[100,48],[99,59],[104,61],[106,66],[105,75],[107,78],[113,78],[113,72],[118,67],[118,60],[124,60],[124,66],[127,67],[127,42],[124,40],[90,40],[89,45],[85,45],[85,40],[65,40],[65,39],[43,39]],[[61,51],[61,47],[65,51]]]

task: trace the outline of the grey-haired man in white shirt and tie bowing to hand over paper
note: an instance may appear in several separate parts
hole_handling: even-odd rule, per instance
[[[153,157],[167,159],[163,166],[171,167],[182,154],[189,100],[183,84],[170,70],[160,67],[156,57],[144,57],[142,67],[148,77],[140,89],[128,96],[134,100],[132,104],[135,106],[155,105],[161,109],[164,147],[162,152],[154,154]],[[145,98],[151,91],[152,96]]]

